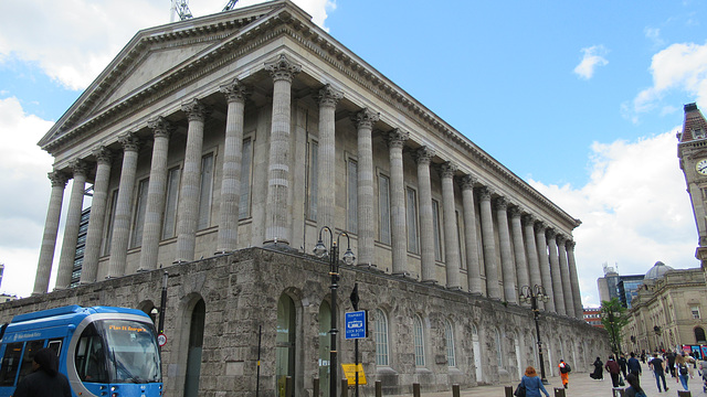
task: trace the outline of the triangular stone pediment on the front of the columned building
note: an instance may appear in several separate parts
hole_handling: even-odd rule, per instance
[[[77,126],[208,56],[249,25],[293,7],[291,0],[270,1],[138,32],[38,144],[48,150]]]

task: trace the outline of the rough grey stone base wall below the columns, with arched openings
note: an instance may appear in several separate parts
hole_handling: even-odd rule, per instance
[[[295,395],[312,396],[319,374],[319,307],[329,299],[329,266],[300,253],[249,248],[165,269],[101,281],[74,289],[0,304],[0,320],[19,313],[61,307],[122,305],[149,312],[159,307],[162,272],[169,273],[166,310],[168,343],[162,350],[166,394],[181,396],[187,378],[189,333],[194,305],[205,305],[199,378],[200,396],[254,396],[261,337],[260,390],[276,395],[276,337],[278,300],[288,296],[295,305]],[[351,311],[349,294],[358,283],[359,309],[369,311],[369,337],[359,343],[368,388],[381,380],[386,394],[410,393],[412,383],[425,391],[518,379],[527,365],[536,365],[535,322],[527,308],[505,304],[464,291],[450,291],[376,269],[341,267],[338,289],[339,363],[354,363],[354,342],[344,339],[344,313]],[[390,362],[376,365],[373,314],[388,319]],[[425,365],[416,366],[413,318],[423,321]],[[445,322],[452,325],[456,365],[447,363]],[[474,348],[474,329],[478,348]],[[560,358],[574,372],[587,372],[609,345],[603,330],[555,314],[540,318],[548,375]],[[500,344],[500,354],[497,346]],[[481,358],[477,378],[475,355]],[[328,356],[325,357],[328,360]],[[499,365],[500,364],[500,365]],[[536,365],[537,367],[537,365]],[[328,390],[323,390],[324,395]]]

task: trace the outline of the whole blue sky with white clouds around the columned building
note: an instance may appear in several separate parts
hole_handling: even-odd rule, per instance
[[[584,304],[599,304],[603,262],[623,275],[698,266],[675,132],[684,104],[707,106],[706,2],[295,3],[582,221]],[[28,193],[0,197],[0,290],[27,296],[52,163],[35,143],[139,29],[169,22],[169,1],[4,0],[0,12],[0,185]]]

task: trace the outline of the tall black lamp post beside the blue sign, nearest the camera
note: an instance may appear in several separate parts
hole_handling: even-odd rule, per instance
[[[321,240],[321,232],[327,230],[329,233],[329,242],[331,243],[331,249],[327,249]],[[329,276],[331,276],[331,285],[329,289],[331,290],[331,329],[329,330],[329,334],[331,335],[331,350],[329,351],[329,397],[336,397],[336,384],[337,384],[337,351],[336,351],[336,334],[339,332],[336,328],[336,290],[339,288],[339,238],[341,236],[346,236],[346,253],[344,253],[344,262],[346,265],[354,265],[356,260],[356,256],[354,251],[351,251],[351,240],[349,238],[348,233],[341,232],[337,235],[336,240],[334,239],[334,232],[329,226],[324,226],[319,229],[319,242],[314,247],[314,254],[318,258],[324,258],[325,256],[329,256]]]

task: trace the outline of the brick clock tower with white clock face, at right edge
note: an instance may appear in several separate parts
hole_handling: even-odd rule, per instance
[[[677,157],[699,235],[695,257],[707,271],[707,121],[697,104],[685,105],[683,130],[677,133]]]

